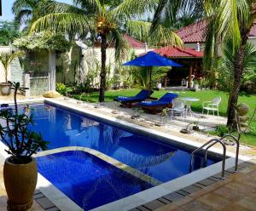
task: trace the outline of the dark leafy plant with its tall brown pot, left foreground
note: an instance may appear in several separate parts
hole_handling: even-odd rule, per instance
[[[20,83],[10,83],[15,90],[15,108],[0,110],[0,137],[7,145],[10,157],[3,166],[3,180],[8,196],[8,210],[28,210],[32,207],[32,197],[38,180],[38,168],[33,154],[46,150],[48,142],[42,135],[32,131],[32,116],[18,111],[16,95]]]

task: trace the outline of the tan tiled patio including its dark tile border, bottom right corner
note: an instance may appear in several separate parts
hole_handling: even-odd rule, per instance
[[[130,211],[254,211],[256,210],[256,164],[250,163],[247,166],[247,163],[241,163],[241,166],[246,168],[240,168],[238,173],[231,174],[225,180],[212,182],[213,185],[207,179],[208,181],[205,180],[204,183],[191,185],[182,192],[174,192],[175,194],[161,197]],[[198,190],[200,185],[206,187]],[[181,195],[185,197],[180,197]]]

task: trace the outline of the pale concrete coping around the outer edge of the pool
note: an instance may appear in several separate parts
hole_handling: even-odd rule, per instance
[[[176,145],[187,147],[190,150],[201,146],[201,143],[173,136],[170,134],[165,134],[152,128],[145,128],[135,123],[128,123],[115,117],[104,117],[101,113],[88,110],[88,108],[86,107],[75,106],[75,104],[72,102],[66,102],[63,100],[44,100],[44,103],[66,109],[68,111],[73,111],[75,113],[82,114],[96,120],[100,120],[104,123],[110,123],[117,127],[125,128],[134,133],[147,135],[151,138],[154,138],[155,140],[160,140],[169,144],[170,142],[172,142]],[[0,143],[0,145],[1,144],[3,145],[2,142]],[[0,152],[4,152],[3,147],[1,147]],[[222,151],[218,148],[212,147],[210,152],[219,155]],[[5,152],[4,154],[7,153]],[[226,169],[233,167],[235,164],[235,154],[228,151],[227,156],[230,158],[226,159]],[[239,163],[243,163],[250,160],[250,157],[240,156],[239,159]],[[93,210],[129,210],[131,208],[137,208],[138,206],[146,202],[151,202],[156,198],[163,197],[166,194],[172,193],[173,191],[177,191],[185,186],[192,185],[200,180],[204,180],[209,176],[218,174],[221,169],[221,164],[221,162],[212,164],[207,168],[201,168],[200,170],[183,175],[182,177],[179,177],[175,180],[171,180],[161,185],[154,186],[153,188],[131,195],[130,197],[125,197],[118,201],[110,202]],[[79,208],[76,203],[74,203],[61,191],[56,189],[55,186],[52,185],[48,180],[46,180],[41,174],[38,174],[38,189],[42,191],[51,202],[53,202],[58,208],[63,211],[83,210],[82,208]]]

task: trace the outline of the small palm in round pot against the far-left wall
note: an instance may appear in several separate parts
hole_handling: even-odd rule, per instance
[[[0,61],[3,65],[5,82],[0,83],[1,93],[9,95],[11,92],[11,83],[8,81],[9,66],[15,58],[20,57],[24,53],[22,51],[3,52],[0,54]]]

